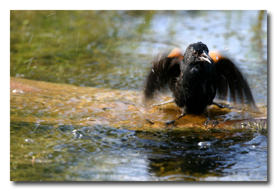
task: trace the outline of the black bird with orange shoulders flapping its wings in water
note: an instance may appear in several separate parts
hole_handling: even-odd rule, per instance
[[[249,85],[235,64],[218,53],[211,52],[209,55],[207,45],[202,42],[189,44],[184,56],[174,49],[169,55],[161,53],[154,60],[146,81],[146,100],[167,84],[181,109],[179,118],[187,113],[204,113],[208,117],[207,106],[216,104],[213,102],[216,94],[226,99],[228,89],[234,102],[238,98],[244,105],[246,98],[251,108],[256,110]]]

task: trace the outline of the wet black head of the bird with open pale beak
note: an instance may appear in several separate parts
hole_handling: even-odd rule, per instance
[[[211,63],[212,58],[209,56],[209,49],[202,42],[189,44],[184,54],[184,59],[189,64],[194,64],[200,61]]]

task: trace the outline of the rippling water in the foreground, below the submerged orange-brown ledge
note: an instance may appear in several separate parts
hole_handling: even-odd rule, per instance
[[[18,161],[12,162],[11,168],[17,170],[11,179],[26,179],[17,177],[23,172],[30,175],[30,180],[220,180],[234,175],[246,176],[242,180],[264,180],[267,177],[267,137],[260,133],[134,132],[67,125],[41,126],[31,133],[34,127],[35,124],[26,122],[11,124],[11,134],[23,133],[36,142],[17,140],[16,150],[22,158],[11,157],[11,161],[14,158]],[[47,139],[42,142],[41,137]],[[201,149],[199,141],[210,142],[211,147]],[[252,165],[244,166],[253,161]],[[28,166],[36,168],[30,171]],[[255,177],[246,175],[252,168],[256,169]]]

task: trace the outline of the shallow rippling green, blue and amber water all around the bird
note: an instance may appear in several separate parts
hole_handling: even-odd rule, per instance
[[[155,54],[202,41],[232,57],[262,111],[211,106],[212,119],[266,116],[267,18],[259,14],[11,11],[10,179],[267,180],[266,130],[195,128],[204,115],[167,127],[179,109],[145,107],[142,97]]]

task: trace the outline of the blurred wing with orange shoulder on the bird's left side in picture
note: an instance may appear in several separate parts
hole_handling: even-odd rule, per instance
[[[169,55],[161,52],[154,59],[153,68],[151,69],[146,85],[144,95],[146,100],[150,99],[155,91],[160,91],[166,84],[169,84],[172,90],[176,78],[180,75],[180,61],[183,55],[179,49],[174,49]]]

